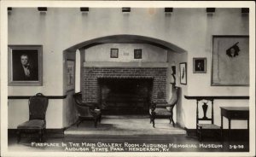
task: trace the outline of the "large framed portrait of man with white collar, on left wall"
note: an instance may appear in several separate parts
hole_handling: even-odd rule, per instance
[[[43,85],[42,53],[42,45],[9,45],[9,86]]]

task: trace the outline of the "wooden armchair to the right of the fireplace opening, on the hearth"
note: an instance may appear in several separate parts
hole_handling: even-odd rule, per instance
[[[150,115],[150,123],[153,123],[154,127],[154,119],[156,118],[168,118],[170,119],[170,124],[172,122],[173,127],[175,127],[175,123],[173,120],[173,108],[177,104],[178,101],[178,87],[172,88],[172,98],[169,102],[151,102],[149,108]]]

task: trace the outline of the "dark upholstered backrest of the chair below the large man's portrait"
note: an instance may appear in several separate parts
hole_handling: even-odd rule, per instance
[[[29,98],[29,119],[42,119],[45,121],[45,114],[48,107],[48,98],[42,93]]]

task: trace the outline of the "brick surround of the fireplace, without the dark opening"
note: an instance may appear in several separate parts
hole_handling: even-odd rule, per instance
[[[154,78],[152,100],[166,101],[167,67],[83,67],[84,102],[98,102],[98,78]]]

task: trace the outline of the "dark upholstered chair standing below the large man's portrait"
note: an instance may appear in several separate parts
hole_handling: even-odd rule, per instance
[[[18,142],[22,133],[36,133],[38,132],[39,140],[42,141],[44,133],[46,132],[45,114],[48,107],[48,98],[42,93],[32,96],[28,101],[29,105],[29,120],[18,125],[17,134]]]

